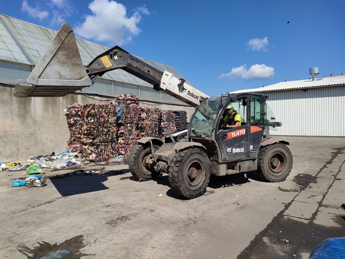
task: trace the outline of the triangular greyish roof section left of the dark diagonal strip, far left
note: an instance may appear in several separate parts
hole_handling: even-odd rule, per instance
[[[0,57],[14,63],[33,65],[0,19]]]

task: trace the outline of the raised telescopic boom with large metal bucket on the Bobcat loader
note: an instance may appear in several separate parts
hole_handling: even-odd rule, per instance
[[[92,81],[107,71],[122,69],[152,84],[190,106],[196,107],[209,97],[190,86],[184,78],[169,71],[160,71],[126,50],[115,46],[83,66],[72,28],[64,23],[27,80],[18,80],[14,88],[17,97],[65,96],[92,85]]]

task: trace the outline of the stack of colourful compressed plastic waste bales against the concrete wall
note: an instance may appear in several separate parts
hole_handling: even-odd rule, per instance
[[[188,127],[187,116],[180,115],[184,111],[175,111],[179,113],[175,118],[175,112],[139,107],[138,97],[131,94],[116,97],[114,103],[72,104],[65,112],[70,130],[69,150],[80,151],[91,161],[108,161],[119,155],[128,157],[142,137],[162,139],[155,132],[160,114],[162,129],[168,133],[176,132],[176,124],[179,128]]]

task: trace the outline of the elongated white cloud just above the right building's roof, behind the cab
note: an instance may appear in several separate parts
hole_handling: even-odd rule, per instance
[[[253,79],[267,79],[269,77],[272,77],[274,75],[274,68],[268,67],[265,64],[259,65],[255,64],[247,70],[246,64],[234,67],[231,69],[231,71],[227,74],[221,74],[219,78],[234,78],[234,77],[242,77],[245,80],[253,80]]]

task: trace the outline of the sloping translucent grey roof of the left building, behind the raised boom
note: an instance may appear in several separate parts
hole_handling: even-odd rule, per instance
[[[55,30],[0,14],[0,40],[4,43],[0,45],[0,59],[19,64],[36,65],[56,33]],[[80,38],[76,38],[76,40],[84,65],[89,64],[93,58],[109,49]],[[167,70],[178,78],[184,78],[172,67],[138,58],[161,71]],[[122,69],[109,71],[102,78],[126,84],[153,87],[146,81]],[[186,82],[193,86],[187,80]]]

